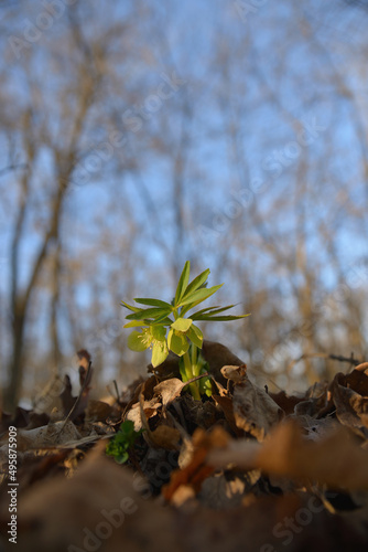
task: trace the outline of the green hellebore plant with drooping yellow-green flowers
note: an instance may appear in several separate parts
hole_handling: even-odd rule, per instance
[[[126,318],[129,320],[125,328],[141,328],[133,330],[128,338],[128,347],[133,351],[152,350],[151,363],[153,367],[161,364],[173,351],[181,357],[180,370],[183,381],[188,381],[207,371],[207,363],[201,354],[203,333],[194,323],[195,321],[229,321],[245,318],[249,315],[231,316],[223,315],[234,307],[207,307],[193,312],[190,318],[185,315],[194,307],[214,295],[223,284],[207,288],[209,268],[201,273],[190,283],[191,263],[187,261],[180,277],[175,297],[172,302],[160,299],[137,298],[136,302],[149,308],[138,308],[121,301],[131,314]],[[172,318],[171,318],[172,317]],[[169,333],[166,337],[169,328]],[[209,379],[204,379],[190,384],[194,399],[201,400],[201,393],[210,396]]]

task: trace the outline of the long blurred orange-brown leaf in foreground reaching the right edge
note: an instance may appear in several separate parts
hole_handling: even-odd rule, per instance
[[[332,488],[368,490],[368,452],[345,427],[325,439],[312,442],[303,437],[299,425],[286,422],[261,445],[232,440],[227,449],[212,450],[207,461],[217,467],[235,463],[245,469],[258,468],[267,474],[326,484]]]

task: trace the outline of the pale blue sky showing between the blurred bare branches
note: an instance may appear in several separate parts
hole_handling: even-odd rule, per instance
[[[25,8],[26,3],[23,2],[22,6],[26,11],[20,12],[17,25],[8,29],[8,35],[9,32],[20,32],[24,18],[29,17],[33,21],[36,17],[35,4]],[[99,4],[95,2],[91,6],[96,8]],[[128,3],[109,4],[108,9],[97,8],[100,17],[86,17],[86,33],[95,36],[111,20],[122,20],[126,6]],[[130,102],[129,91],[127,100],[123,95],[119,98],[112,93],[107,94],[102,96],[99,112],[95,114],[102,119],[116,102],[116,123],[127,134],[129,148],[117,149],[100,172],[91,173],[89,182],[75,185],[65,205],[63,240],[69,258],[87,258],[89,255],[89,263],[95,268],[94,277],[101,289],[104,285],[107,286],[101,291],[104,300],[99,298],[105,305],[104,316],[106,319],[113,318],[120,309],[116,294],[110,293],[105,283],[109,282],[111,266],[120,267],[121,259],[113,255],[119,255],[118,237],[129,240],[129,227],[123,224],[128,215],[131,215],[132,223],[141,232],[131,252],[137,255],[134,287],[140,290],[140,295],[156,293],[163,299],[172,295],[175,283],[166,268],[171,262],[165,250],[167,247],[182,262],[193,257],[202,265],[199,269],[214,265],[215,283],[218,277],[231,283],[225,294],[229,300],[239,299],[241,294],[241,280],[234,278],[235,266],[240,265],[246,272],[249,263],[252,263],[255,285],[263,282],[270,289],[280,288],[288,297],[291,282],[283,277],[282,266],[277,270],[273,267],[272,270],[268,269],[272,266],[270,257],[264,251],[258,253],[259,237],[248,221],[252,220],[255,209],[259,210],[269,235],[280,234],[281,250],[292,251],[296,221],[292,198],[297,191],[296,170],[302,156],[309,162],[306,185],[311,191],[309,202],[304,205],[310,214],[306,222],[307,253],[310,258],[314,255],[318,257],[320,277],[324,279],[326,288],[333,288],[336,275],[334,267],[323,263],[326,252],[320,247],[318,224],[328,221],[332,225],[336,217],[336,203],[329,202],[329,198],[335,200],[338,193],[347,190],[351,205],[360,208],[367,188],[360,139],[354,118],[358,105],[357,113],[366,131],[367,81],[362,75],[367,39],[362,22],[367,19],[367,10],[337,0],[329,4],[328,10],[321,2],[312,0],[303,0],[297,7],[283,0],[264,2],[242,21],[237,14],[236,3],[225,0],[199,3],[194,0],[183,3],[165,1],[158,6],[149,4],[148,9],[151,15],[147,20],[142,17],[139,23],[134,22],[137,42],[131,49],[131,56],[119,60],[119,52],[115,55],[116,75],[120,78],[126,75],[134,99]],[[297,26],[303,15],[306,18],[305,24],[311,25],[311,29],[305,26],[305,35]],[[299,19],[295,20],[296,17]],[[67,81],[67,73],[62,70],[68,67],[68,62],[62,54],[55,74],[45,70],[46,59],[50,61],[52,55],[56,55],[55,52],[51,54],[53,40],[63,33],[64,25],[66,20],[61,18],[32,46],[32,54],[36,56],[36,63],[32,65],[35,71],[33,78],[46,98],[46,117],[52,113],[58,87]],[[132,24],[130,32],[133,34],[133,31]],[[307,39],[310,31],[312,39]],[[7,71],[12,75],[11,87],[17,102],[26,103],[29,91],[24,85],[21,64],[9,65]],[[171,71],[176,71],[186,82],[185,85],[173,98],[167,99],[167,104],[163,103],[152,117],[143,121],[139,132],[125,128],[125,110],[129,108],[137,114],[137,106],[142,105],[162,82],[162,72],[171,74]],[[336,72],[354,92],[354,102],[342,96],[336,86]],[[109,92],[108,86],[104,93],[106,91]],[[187,129],[191,138],[190,161],[184,176],[184,206],[191,227],[180,248],[172,231],[175,203],[172,176],[173,158],[180,147],[184,102],[192,112]],[[303,121],[311,125],[313,120],[325,130],[317,132],[309,146],[300,146],[300,156],[291,159],[288,151],[297,147],[301,125]],[[56,140],[63,136],[63,124],[57,118],[53,121]],[[236,152],[229,137],[231,125],[237,129]],[[90,132],[86,131],[85,135],[85,145],[105,140],[109,130],[107,126],[99,128],[91,124]],[[162,153],[150,146],[151,136],[162,139],[166,148]],[[3,135],[0,140],[6,144]],[[7,163],[4,151],[1,166]],[[122,161],[130,159],[132,152],[139,159],[138,170],[123,171]],[[275,161],[280,156],[284,164]],[[117,167],[121,167],[121,177],[117,173]],[[35,195],[29,234],[22,246],[21,278],[29,274],[30,262],[37,246],[39,237],[33,224],[43,214],[47,216],[42,194],[48,193],[47,179],[54,178],[53,171],[50,151],[45,150],[35,174],[37,182],[43,181],[43,188]],[[234,194],[239,197],[245,190],[251,189],[255,179],[261,179],[263,187],[252,192],[251,201],[239,210],[238,216],[229,216],[227,213],[231,209]],[[7,262],[17,210],[15,181],[14,174],[0,180],[2,197],[9,203],[3,209],[4,219],[0,226],[0,256],[3,259],[0,289],[6,305],[9,300]],[[145,201],[142,200],[142,190]],[[274,211],[277,202],[290,205],[288,216],[282,209]],[[109,230],[111,248],[100,248],[94,264],[90,256],[96,253],[96,244],[100,246],[101,229]],[[367,254],[366,231],[367,221],[342,212],[340,224],[334,227],[334,232],[344,265],[354,266],[357,259]],[[111,245],[113,233],[117,236],[115,246]],[[229,244],[227,238],[230,238],[231,233],[235,242]],[[160,240],[164,242],[164,247],[158,244]],[[217,266],[224,247],[229,252],[228,264]],[[239,247],[245,252],[241,259],[238,258]],[[153,277],[150,277],[150,270]],[[296,275],[295,280],[302,277]],[[125,284],[121,283],[123,293]],[[88,278],[79,284],[76,300],[80,309],[88,309],[94,301],[94,287]],[[246,297],[240,296],[239,302],[247,307]],[[290,311],[293,305],[293,299],[288,299],[285,311]],[[40,347],[47,323],[47,318],[40,318],[36,322],[40,329],[32,330],[32,336],[37,336]],[[87,322],[83,320],[82,323]],[[64,333],[67,335],[67,331]]]

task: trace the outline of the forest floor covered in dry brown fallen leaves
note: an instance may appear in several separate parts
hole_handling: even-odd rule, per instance
[[[289,396],[205,344],[202,401],[174,358],[91,400],[79,351],[77,396],[66,375],[1,413],[0,550],[367,550],[368,363]]]

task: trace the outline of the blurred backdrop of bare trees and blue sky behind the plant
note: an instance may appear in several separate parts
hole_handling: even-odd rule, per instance
[[[187,258],[252,314],[206,335],[269,384],[366,357],[366,2],[0,10],[7,407],[82,347],[101,385],[144,372],[119,302],[170,299]]]

